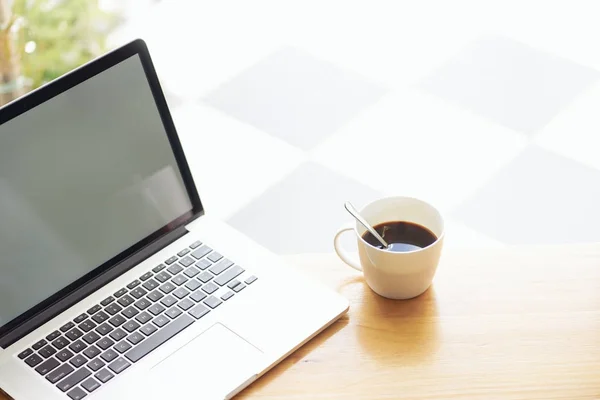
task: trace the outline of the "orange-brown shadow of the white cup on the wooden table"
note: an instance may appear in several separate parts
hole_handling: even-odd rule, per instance
[[[385,364],[427,364],[441,344],[435,290],[409,300],[379,296],[363,283],[363,301],[351,316],[365,355]]]

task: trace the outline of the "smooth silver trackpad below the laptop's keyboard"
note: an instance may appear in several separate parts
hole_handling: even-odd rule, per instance
[[[252,344],[215,324],[152,368],[149,397],[223,399],[260,372],[261,356]]]

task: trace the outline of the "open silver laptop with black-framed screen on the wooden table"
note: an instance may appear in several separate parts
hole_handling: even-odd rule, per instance
[[[0,109],[14,399],[228,399],[347,311],[205,215],[186,156],[211,133],[197,135],[206,148],[184,154],[142,40]]]

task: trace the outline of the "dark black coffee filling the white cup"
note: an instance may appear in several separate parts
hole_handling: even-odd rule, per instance
[[[433,244],[437,240],[435,234],[429,229],[412,222],[384,222],[375,225],[373,228],[389,244],[386,250],[397,253],[419,250]],[[364,233],[363,239],[372,246],[379,249],[384,248],[369,231]]]

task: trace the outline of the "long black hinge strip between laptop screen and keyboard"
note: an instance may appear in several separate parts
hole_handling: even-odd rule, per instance
[[[0,348],[7,348],[8,346],[15,343],[17,340],[21,339],[28,333],[34,331],[41,325],[50,321],[52,318],[56,317],[61,312],[67,310],[68,308],[83,300],[96,290],[105,286],[107,283],[113,281],[115,278],[129,271],[145,259],[164,249],[166,246],[170,245],[177,239],[185,236],[187,233],[189,232],[185,228],[185,226],[175,228],[171,232],[150,243],[148,246],[144,247],[137,253],[134,253],[127,259],[121,261],[119,264],[114,265],[113,267],[105,271],[103,274],[85,283],[84,285],[75,289],[68,295],[53,303],[52,305],[48,306],[46,309],[40,311],[38,314],[34,315],[30,319],[24,321],[12,330],[6,332],[4,335],[2,335],[2,337],[0,337]]]

